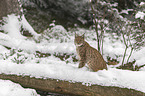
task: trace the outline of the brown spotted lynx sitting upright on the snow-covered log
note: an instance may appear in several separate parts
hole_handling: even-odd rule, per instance
[[[102,55],[84,40],[84,35],[78,36],[75,34],[74,43],[80,61],[78,68],[82,68],[87,63],[92,71],[107,69]]]

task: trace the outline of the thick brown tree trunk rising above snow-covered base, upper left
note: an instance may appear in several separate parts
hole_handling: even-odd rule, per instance
[[[18,0],[0,0],[0,20],[9,14],[20,15],[20,5]]]

